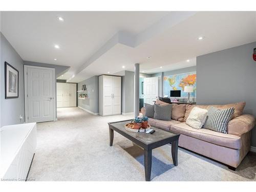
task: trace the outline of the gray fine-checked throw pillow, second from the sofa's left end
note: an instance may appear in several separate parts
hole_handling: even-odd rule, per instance
[[[155,104],[154,119],[170,121],[172,116],[172,104]]]

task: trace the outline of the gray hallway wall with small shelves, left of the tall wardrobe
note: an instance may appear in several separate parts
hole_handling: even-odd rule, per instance
[[[77,84],[77,90],[81,90],[83,84],[86,84],[89,99],[77,99],[77,106],[89,110],[92,113],[99,113],[99,77],[93,76]],[[78,92],[79,94],[79,92]]]

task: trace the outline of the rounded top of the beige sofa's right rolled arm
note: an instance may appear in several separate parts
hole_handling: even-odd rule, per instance
[[[249,132],[255,125],[255,118],[252,115],[244,114],[238,116],[227,124],[227,133],[241,136]]]

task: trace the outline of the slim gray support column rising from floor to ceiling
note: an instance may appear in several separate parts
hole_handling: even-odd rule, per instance
[[[136,63],[134,65],[135,68],[135,89],[134,89],[134,116],[137,117],[140,112],[140,65]]]

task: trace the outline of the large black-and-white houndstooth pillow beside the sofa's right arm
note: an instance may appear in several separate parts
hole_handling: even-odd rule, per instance
[[[227,124],[232,119],[234,108],[219,110],[210,107],[202,128],[227,134]]]

